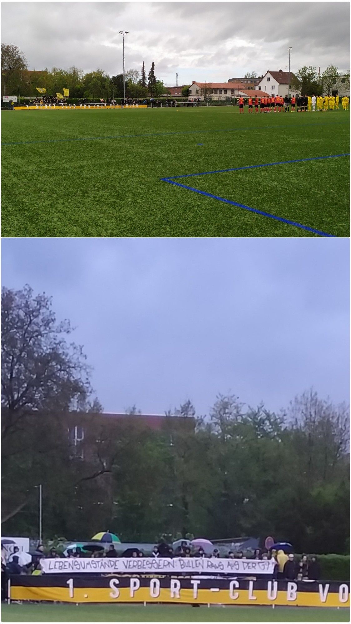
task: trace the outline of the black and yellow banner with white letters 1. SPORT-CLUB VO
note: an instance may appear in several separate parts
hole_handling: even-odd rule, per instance
[[[12,577],[11,600],[350,607],[349,583],[200,577]]]

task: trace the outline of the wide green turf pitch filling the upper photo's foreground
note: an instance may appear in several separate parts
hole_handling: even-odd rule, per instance
[[[342,109],[4,111],[2,236],[318,236],[161,178],[349,154],[349,123]],[[349,236],[349,167],[340,157],[176,182]]]

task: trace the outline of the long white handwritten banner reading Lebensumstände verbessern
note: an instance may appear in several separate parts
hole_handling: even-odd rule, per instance
[[[60,573],[210,573],[272,574],[275,562],[259,559],[207,559],[202,557],[121,557],[41,559],[44,574]]]

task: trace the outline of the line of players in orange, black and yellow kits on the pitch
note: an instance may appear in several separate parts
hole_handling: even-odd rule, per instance
[[[239,97],[239,113],[244,113],[245,100],[244,97]],[[329,97],[326,95],[325,97],[318,96],[317,99],[315,95],[312,97],[307,95],[292,95],[292,97],[282,97],[282,95],[272,95],[272,97],[249,97],[247,100],[247,104],[249,105],[249,113],[254,112],[258,113],[269,113],[269,112],[295,112],[295,107],[297,107],[297,112],[314,112],[315,105],[317,103],[317,110],[334,110],[339,109],[339,95],[336,97]],[[291,110],[289,111],[291,105]],[[342,107],[344,110],[349,110],[349,98],[342,98]]]

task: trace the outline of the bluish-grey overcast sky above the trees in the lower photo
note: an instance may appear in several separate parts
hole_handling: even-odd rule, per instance
[[[2,285],[53,296],[104,411],[218,392],[349,397],[349,240],[2,239]]]

